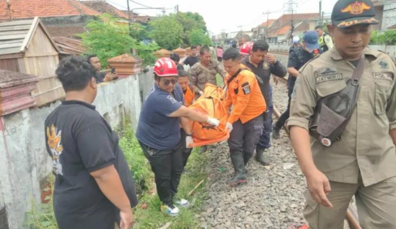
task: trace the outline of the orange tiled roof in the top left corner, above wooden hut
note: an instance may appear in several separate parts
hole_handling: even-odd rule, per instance
[[[0,1],[0,20],[71,15],[100,15],[77,0],[5,0]]]

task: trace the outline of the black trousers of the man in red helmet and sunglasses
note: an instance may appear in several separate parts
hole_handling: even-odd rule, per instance
[[[142,142],[139,143],[154,173],[159,199],[172,206],[183,173],[180,142],[175,148],[167,150],[154,149]]]

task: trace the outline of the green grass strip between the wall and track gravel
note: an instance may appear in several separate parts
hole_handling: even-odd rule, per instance
[[[207,178],[204,171],[204,155],[198,154],[199,148],[193,150],[187,166],[186,173],[182,175],[178,196],[190,200],[191,207],[180,209],[181,213],[177,217],[169,217],[160,212],[160,200],[156,194],[146,192],[140,199],[139,205],[135,208],[135,225],[134,229],[157,229],[170,222],[170,229],[196,229],[200,228],[196,215],[200,213],[200,206],[203,202],[205,182],[202,183],[192,194],[188,193],[201,181]],[[142,206],[147,207],[143,208]]]

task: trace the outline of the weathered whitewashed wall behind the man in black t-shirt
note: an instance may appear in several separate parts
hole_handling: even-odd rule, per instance
[[[94,102],[113,128],[127,115],[135,129],[141,110],[139,79],[143,74],[100,85]],[[45,148],[44,121],[60,101],[0,117],[0,210],[9,229],[24,228],[31,198],[40,201],[40,181],[52,170]],[[1,222],[0,222],[1,226]],[[3,227],[0,227],[3,229]]]

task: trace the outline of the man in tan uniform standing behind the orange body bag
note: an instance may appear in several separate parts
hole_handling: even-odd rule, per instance
[[[201,47],[199,51],[201,60],[190,68],[190,82],[194,85],[196,94],[203,94],[205,84],[216,85],[216,74],[221,77],[226,75],[223,67],[217,60],[211,58],[210,50],[207,46]]]

